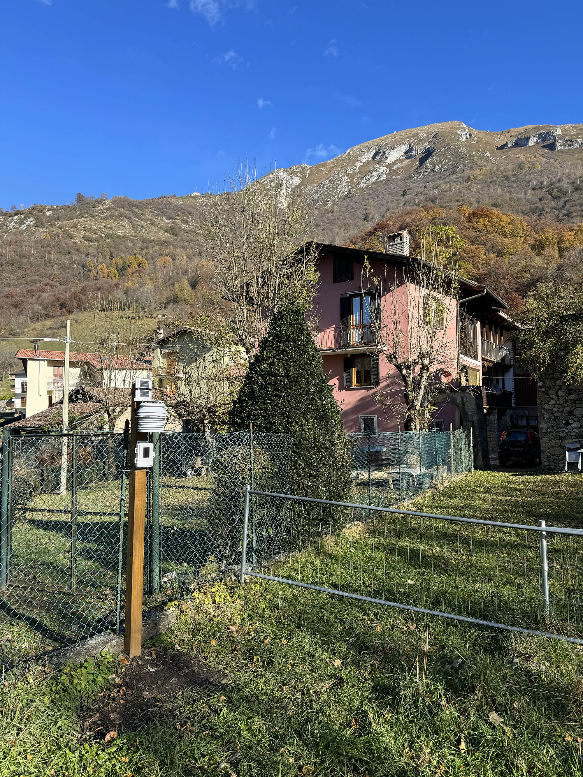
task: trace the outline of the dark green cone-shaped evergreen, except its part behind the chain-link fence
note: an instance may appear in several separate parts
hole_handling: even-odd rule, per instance
[[[279,308],[232,407],[233,430],[289,434],[290,492],[343,501],[351,491],[350,444],[340,408],[301,308]]]

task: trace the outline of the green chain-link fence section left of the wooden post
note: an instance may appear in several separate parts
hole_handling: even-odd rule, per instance
[[[0,660],[11,663],[118,625],[126,469],[120,434],[23,435],[2,448]]]

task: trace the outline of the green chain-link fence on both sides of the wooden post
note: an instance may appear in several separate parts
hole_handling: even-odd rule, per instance
[[[145,605],[240,565],[246,483],[288,490],[291,439],[153,434]],[[124,622],[129,435],[3,436],[0,662],[64,650]]]

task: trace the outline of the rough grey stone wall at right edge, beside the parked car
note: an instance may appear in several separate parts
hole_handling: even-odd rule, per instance
[[[565,467],[565,443],[583,443],[583,385],[567,385],[558,375],[543,374],[537,396],[542,467],[560,472]]]

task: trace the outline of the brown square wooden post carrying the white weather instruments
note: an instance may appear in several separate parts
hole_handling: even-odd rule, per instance
[[[148,439],[146,432],[138,434],[138,408],[135,388],[131,396],[130,478],[127,503],[127,567],[125,580],[124,651],[130,658],[141,653],[141,600],[144,593],[144,529],[146,504],[145,469],[136,469],[134,448],[138,441]]]

